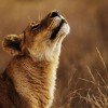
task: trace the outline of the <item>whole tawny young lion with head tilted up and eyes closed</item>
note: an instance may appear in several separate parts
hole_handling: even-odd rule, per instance
[[[0,108],[51,108],[56,68],[69,25],[53,11],[21,35],[9,35],[3,49],[14,55],[0,76]]]

